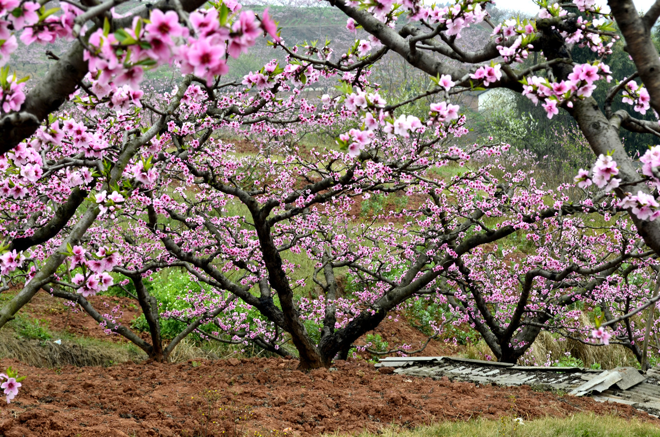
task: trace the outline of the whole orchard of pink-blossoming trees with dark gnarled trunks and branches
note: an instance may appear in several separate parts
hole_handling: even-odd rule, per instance
[[[436,331],[469,323],[500,360],[515,362],[543,329],[620,343],[642,360],[640,339],[657,323],[644,331],[630,314],[649,298],[645,281],[660,253],[651,191],[660,149],[642,156],[639,175],[618,129],[660,127],[612,114],[611,99],[633,114],[660,108],[660,84],[642,68],[660,62],[657,51],[628,32],[636,20],[652,26],[659,11],[633,17],[630,1],[612,0],[612,16],[586,1],[578,14],[543,3],[535,18],[494,24],[482,0],[330,1],[355,34],[340,52],[331,42],[291,45],[267,10],[233,1],[163,1],[127,15],[112,9],[119,3],[1,4],[0,273],[3,290],[20,291],[0,310],[0,326],[43,288],[159,361],[195,332],[285,355],[293,347],[301,366],[314,368],[345,358],[392,310],[424,300],[447,308],[431,323]],[[640,71],[616,78],[601,111],[592,95],[613,79],[612,17]],[[482,48],[459,46],[484,26]],[[277,59],[223,82],[231,59],[258,38]],[[11,71],[19,41],[55,40],[71,46],[53,55],[45,79]],[[573,46],[593,60],[574,63]],[[387,102],[370,68],[388,51],[432,86]],[[531,64],[533,52],[541,59]],[[145,92],[145,75],[158,67],[182,79]],[[303,97],[319,83],[336,88]],[[548,187],[523,152],[468,137],[451,96],[496,87],[541,104],[550,119],[560,110],[576,119],[599,156],[579,170],[583,190]],[[424,114],[407,113],[421,98],[431,99]],[[305,129],[339,127],[337,147],[299,141]],[[237,137],[254,153],[237,149]],[[354,208],[370,198],[407,205],[361,220]],[[313,266],[308,277],[294,261],[301,257]],[[147,285],[173,268],[200,286],[183,308],[162,311]],[[349,292],[337,281],[346,272]],[[150,342],[86,299],[111,286],[130,286]],[[602,312],[612,332],[579,326],[577,306]],[[162,318],[185,325],[167,346]],[[8,400],[13,378],[3,383]]]

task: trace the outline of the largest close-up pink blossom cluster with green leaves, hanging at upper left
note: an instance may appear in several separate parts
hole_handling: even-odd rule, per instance
[[[131,28],[113,33],[108,26],[96,30],[89,38],[90,50],[84,53],[96,97],[110,95],[112,100],[120,93],[122,102],[137,103],[145,68],[173,62],[182,73],[193,73],[210,86],[216,76],[228,72],[225,55],[237,58],[263,32],[276,36],[267,10],[259,21],[251,11],[238,13],[238,8],[234,4],[229,11],[220,4],[195,11],[189,15],[191,28],[180,24],[182,17],[175,11],[155,9],[149,20],[135,17]],[[230,13],[238,13],[234,22],[227,18]]]

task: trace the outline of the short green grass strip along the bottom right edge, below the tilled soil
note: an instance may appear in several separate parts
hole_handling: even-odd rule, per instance
[[[523,424],[514,424],[513,420],[513,417],[505,417],[500,420],[442,422],[414,430],[392,427],[378,434],[363,432],[360,437],[660,437],[660,429],[654,424],[593,413],[523,420]]]

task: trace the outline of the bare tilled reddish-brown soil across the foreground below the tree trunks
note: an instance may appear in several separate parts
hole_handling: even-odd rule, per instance
[[[30,368],[19,396],[0,407],[6,437],[317,436],[438,420],[564,417],[578,411],[637,416],[627,405],[537,392],[380,373],[366,362],[334,371],[296,370],[296,360],[259,358]]]

